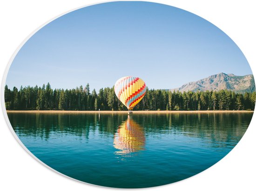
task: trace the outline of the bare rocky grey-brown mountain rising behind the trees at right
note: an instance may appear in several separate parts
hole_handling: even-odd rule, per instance
[[[171,91],[206,91],[228,89],[236,93],[245,93],[255,91],[255,81],[253,75],[236,76],[234,74],[219,73],[203,78],[196,82],[183,84],[180,88],[171,89]]]

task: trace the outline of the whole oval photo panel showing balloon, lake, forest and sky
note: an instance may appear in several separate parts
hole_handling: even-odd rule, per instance
[[[8,70],[13,133],[46,166],[145,188],[216,164],[243,137],[255,81],[237,45],[182,9],[108,2],[37,31]]]

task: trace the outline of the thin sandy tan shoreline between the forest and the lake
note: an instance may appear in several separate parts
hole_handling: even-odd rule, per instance
[[[42,114],[128,114],[128,111],[68,111],[68,110],[6,110],[7,113]],[[133,114],[175,114],[175,113],[253,113],[247,110],[199,110],[199,111],[133,111]]]

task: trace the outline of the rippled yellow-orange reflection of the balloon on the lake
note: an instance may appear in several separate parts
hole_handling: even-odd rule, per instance
[[[116,154],[129,154],[144,150],[145,135],[143,128],[128,116],[117,130],[114,137],[114,147],[119,149]]]

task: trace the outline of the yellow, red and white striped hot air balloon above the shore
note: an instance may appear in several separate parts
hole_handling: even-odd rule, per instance
[[[141,78],[126,76],[115,83],[115,95],[128,108],[132,110],[146,93],[146,84]]]

